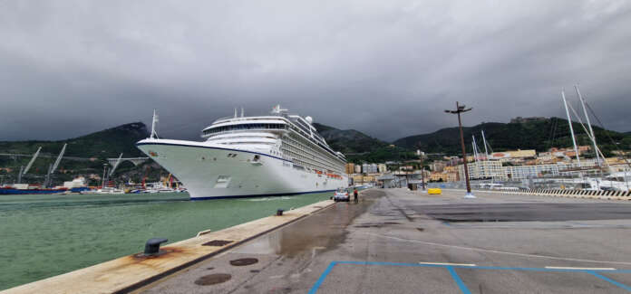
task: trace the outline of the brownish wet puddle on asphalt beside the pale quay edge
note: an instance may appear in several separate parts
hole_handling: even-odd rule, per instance
[[[267,233],[233,252],[294,257],[301,252],[312,254],[315,250],[333,249],[344,242],[346,227],[354,218],[365,213],[374,204],[374,200],[384,194],[379,190],[365,191],[358,204],[338,202],[320,213]]]

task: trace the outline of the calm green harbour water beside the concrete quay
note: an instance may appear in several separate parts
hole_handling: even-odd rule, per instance
[[[328,199],[331,194],[189,201],[186,193],[0,196],[0,289]]]

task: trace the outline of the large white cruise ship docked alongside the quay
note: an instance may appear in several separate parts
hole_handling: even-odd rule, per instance
[[[142,152],[175,175],[193,200],[306,194],[348,186],[345,156],[326,144],[313,119],[279,105],[267,116],[217,119],[205,141],[157,138],[155,115]]]

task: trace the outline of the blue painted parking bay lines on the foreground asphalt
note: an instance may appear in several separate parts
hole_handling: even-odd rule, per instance
[[[350,265],[386,265],[386,266],[406,266],[406,267],[422,267],[422,268],[443,268],[449,270],[451,278],[458,284],[462,293],[471,293],[460,276],[456,273],[455,269],[472,269],[472,270],[524,270],[524,271],[548,271],[548,272],[584,272],[597,277],[600,280],[606,280],[607,282],[616,285],[622,289],[626,289],[631,292],[631,286],[623,284],[613,279],[609,279],[599,272],[612,272],[612,273],[631,273],[631,270],[581,270],[581,269],[547,269],[547,268],[515,268],[515,267],[491,267],[491,266],[469,266],[469,265],[451,265],[451,264],[430,264],[430,263],[405,263],[405,262],[387,262],[387,261],[331,261],[326,270],[320,275],[320,278],[315,281],[314,286],[309,290],[309,294],[315,294],[317,289],[320,288],[325,281],[326,276],[331,273],[331,270],[336,264],[350,264]]]

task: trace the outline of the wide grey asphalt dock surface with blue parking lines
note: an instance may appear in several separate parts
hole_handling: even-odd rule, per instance
[[[627,293],[631,203],[364,191],[142,293]]]

